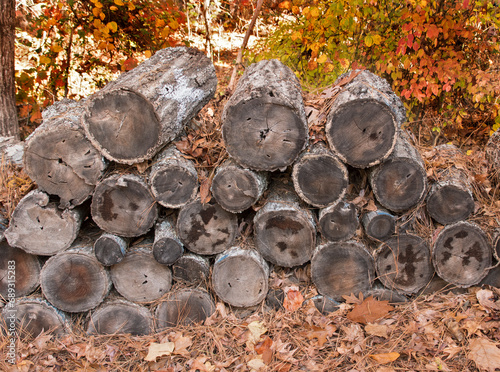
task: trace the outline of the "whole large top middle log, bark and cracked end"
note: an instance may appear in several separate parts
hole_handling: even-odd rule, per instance
[[[245,70],[221,121],[227,152],[245,168],[284,169],[307,145],[300,83],[278,60],[263,60]]]

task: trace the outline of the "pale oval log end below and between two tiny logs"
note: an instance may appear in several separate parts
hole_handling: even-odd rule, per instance
[[[160,264],[147,248],[129,250],[125,258],[111,266],[115,289],[127,300],[137,303],[156,301],[172,287],[172,270]]]

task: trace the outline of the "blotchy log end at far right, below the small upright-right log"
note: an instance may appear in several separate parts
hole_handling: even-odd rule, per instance
[[[460,221],[443,228],[432,251],[436,273],[448,283],[467,288],[478,284],[492,266],[492,249],[478,226]]]

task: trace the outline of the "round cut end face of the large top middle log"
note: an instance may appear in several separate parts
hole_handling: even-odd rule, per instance
[[[227,152],[240,165],[274,171],[297,158],[306,145],[307,126],[292,108],[255,98],[229,107],[222,135]]]

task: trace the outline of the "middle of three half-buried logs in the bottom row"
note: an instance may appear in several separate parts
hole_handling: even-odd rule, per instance
[[[148,335],[153,332],[153,316],[144,306],[121,298],[106,300],[92,311],[88,334]]]

